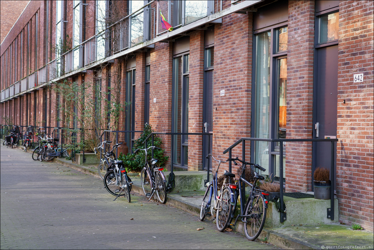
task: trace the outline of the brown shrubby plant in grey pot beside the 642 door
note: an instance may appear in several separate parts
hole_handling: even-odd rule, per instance
[[[315,199],[330,199],[331,195],[331,181],[330,170],[327,168],[318,167],[314,171],[314,198]]]

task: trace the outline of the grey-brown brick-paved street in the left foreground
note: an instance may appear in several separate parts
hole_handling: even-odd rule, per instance
[[[21,150],[0,160],[1,249],[278,249],[134,192],[113,201],[101,179]]]

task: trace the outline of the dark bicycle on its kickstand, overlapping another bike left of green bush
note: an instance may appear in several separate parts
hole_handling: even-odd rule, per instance
[[[123,142],[119,142],[116,145],[114,145],[112,151],[122,144]],[[131,202],[130,192],[132,181],[130,177],[128,177],[127,175],[127,171],[122,160],[114,160],[108,166],[108,172],[104,176],[104,186],[109,193],[111,193],[114,196],[117,196],[114,199],[114,201],[119,196],[126,196],[127,201]]]

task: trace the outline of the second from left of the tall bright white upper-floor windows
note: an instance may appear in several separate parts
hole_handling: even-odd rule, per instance
[[[74,0],[74,16],[73,16],[73,69],[80,67],[80,1]]]

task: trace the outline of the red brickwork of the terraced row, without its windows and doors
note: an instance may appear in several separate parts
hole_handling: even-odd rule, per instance
[[[206,30],[214,33],[214,70],[213,70],[213,140],[212,154],[224,159],[228,154],[222,152],[240,138],[254,137],[254,122],[257,117],[253,114],[256,108],[254,93],[257,91],[255,82],[256,37],[264,31],[276,31],[276,28],[287,27],[287,51],[282,57],[287,58],[286,68],[286,138],[287,139],[312,139],[314,133],[315,110],[313,105],[316,98],[316,16],[320,13],[338,11],[339,25],[338,39],[333,41],[338,45],[338,82],[337,82],[337,158],[336,158],[336,194],[339,200],[339,220],[347,224],[361,224],[365,229],[373,230],[373,1],[309,1],[290,0],[283,3],[285,11],[279,13],[283,16],[258,15],[259,12],[276,9],[279,2],[268,6],[260,6],[261,3],[244,8],[241,12],[229,12],[234,6],[231,1],[214,1],[215,15],[220,13],[221,3],[223,15],[217,22],[206,21],[199,27],[193,27],[194,23],[182,25],[159,36],[147,38],[149,44],[134,46],[138,48],[131,53],[132,48],[124,48],[122,51],[113,52],[111,60],[102,64],[83,65],[78,69],[66,73],[58,79],[58,82],[67,80],[78,85],[89,86],[88,94],[91,100],[95,99],[96,81],[101,79],[102,93],[105,98],[101,103],[101,109],[108,104],[108,91],[111,91],[111,100],[115,98],[113,91],[114,82],[120,84],[120,103],[126,101],[126,71],[135,69],[135,130],[142,130],[144,126],[145,102],[149,102],[149,123],[156,132],[172,132],[172,108],[173,108],[173,57],[179,56],[176,52],[182,45],[183,53],[189,54],[189,87],[188,87],[188,132],[203,132],[204,109],[204,51],[208,37]],[[243,4],[246,1],[241,1]],[[47,3],[49,4],[47,6]],[[82,5],[82,39],[88,39],[96,33],[96,6],[95,1],[86,1]],[[274,4],[274,6],[273,6]],[[278,4],[278,5],[277,5]],[[281,3],[282,4],[282,3]],[[331,6],[330,6],[330,5]],[[335,5],[334,5],[335,4]],[[2,5],[3,6],[3,5]],[[65,9],[64,28],[62,33],[69,42],[73,38],[73,1],[63,1]],[[318,6],[323,6],[321,12]],[[156,3],[150,6],[156,8]],[[253,8],[252,8],[253,7]],[[262,7],[262,9],[261,9]],[[128,13],[126,1],[116,2],[116,10],[122,13],[122,17]],[[277,10],[277,9],[276,9]],[[276,11],[277,12],[277,11]],[[117,14],[118,14],[117,13]],[[48,17],[48,18],[47,18]],[[169,17],[168,17],[169,18]],[[280,19],[277,19],[280,18]],[[36,25],[36,20],[37,25]],[[25,12],[15,23],[9,35],[1,44],[1,93],[9,91],[9,87],[22,79],[29,78],[30,73],[39,72],[38,79],[43,76],[40,69],[56,56],[54,48],[56,43],[56,3],[55,1],[31,1]],[[29,26],[28,26],[29,25]],[[259,25],[261,27],[259,27]],[[278,26],[277,26],[278,25]],[[28,42],[28,27],[30,28]],[[38,32],[36,32],[36,27]],[[151,25],[151,33],[156,23]],[[191,28],[193,27],[193,28]],[[184,32],[178,30],[184,29]],[[175,35],[177,33],[177,35]],[[37,37],[37,39],[36,39]],[[152,42],[160,39],[161,42]],[[272,33],[272,39],[276,34]],[[189,44],[186,43],[187,39]],[[183,42],[184,41],[184,42]],[[273,43],[273,42],[272,42]],[[87,43],[88,44],[88,43]],[[88,46],[85,44],[85,46]],[[147,46],[145,46],[147,45]],[[154,48],[149,45],[154,45]],[[272,45],[274,46],[274,45]],[[188,47],[188,49],[187,49]],[[12,48],[12,49],[10,49]],[[17,49],[16,49],[17,48]],[[37,48],[37,49],[35,49]],[[213,48],[213,47],[212,47]],[[274,49],[272,47],[272,49]],[[12,51],[11,51],[12,50]],[[17,60],[14,60],[17,50]],[[22,53],[21,53],[22,51]],[[124,53],[125,51],[126,53]],[[29,55],[27,55],[29,52]],[[117,54],[116,54],[117,53]],[[264,52],[265,53],[265,52]],[[83,54],[83,52],[82,52]],[[67,60],[68,56],[65,56]],[[82,56],[82,60],[84,56]],[[273,60],[273,59],[272,59]],[[64,63],[64,61],[62,61]],[[145,67],[150,65],[150,97],[145,100]],[[275,60],[272,65],[264,67],[275,68]],[[67,66],[67,61],[65,65]],[[273,69],[268,78],[276,81]],[[353,74],[363,73],[363,82],[353,83]],[[181,78],[181,76],[178,76]],[[30,80],[30,79],[29,79]],[[47,81],[45,81],[47,82]],[[110,82],[110,88],[109,88]],[[20,83],[21,85],[21,83]],[[19,86],[19,85],[17,85]],[[272,85],[272,91],[277,91]],[[35,125],[54,127],[58,126],[56,100],[58,95],[55,88],[58,83],[51,86],[46,83],[31,86],[20,94],[5,97],[1,96],[0,119],[1,124],[12,123],[19,125]],[[221,96],[220,91],[225,95]],[[270,96],[276,94],[270,93]],[[273,98],[273,97],[272,97]],[[154,101],[155,100],[155,101]],[[275,103],[272,100],[270,103]],[[73,110],[73,103],[67,103],[60,97],[61,105]],[[85,105],[88,105],[88,101]],[[47,105],[46,105],[47,104]],[[270,107],[270,121],[275,123],[273,112],[275,106]],[[45,109],[45,107],[47,107]],[[79,107],[83,109],[85,106]],[[328,108],[328,107],[327,107]],[[36,112],[35,112],[36,111]],[[265,109],[261,110],[265,113]],[[119,115],[119,130],[125,130],[126,113]],[[127,114],[130,115],[130,114]],[[59,126],[63,126],[63,114],[59,114]],[[79,113],[82,118],[82,114]],[[112,116],[111,116],[112,117]],[[284,118],[284,117],[283,117]],[[112,118],[111,118],[112,119]],[[278,119],[278,118],[275,118]],[[113,124],[113,120],[110,121]],[[66,124],[69,127],[73,123]],[[82,126],[78,121],[77,127]],[[270,126],[269,126],[270,127]],[[209,132],[209,131],[208,131]],[[135,139],[139,133],[135,133]],[[170,135],[159,135],[163,140],[165,155],[171,156],[172,144]],[[269,135],[268,138],[275,138]],[[113,138],[111,138],[113,140]],[[125,135],[119,134],[119,141],[125,141]],[[269,144],[270,145],[270,144]],[[128,145],[126,145],[128,146]],[[253,148],[246,144],[246,160],[251,160]],[[286,192],[310,192],[312,191],[313,174],[313,144],[311,142],[287,142],[285,147],[285,188]],[[128,149],[126,149],[128,150]],[[126,152],[125,150],[125,152]],[[233,157],[242,155],[242,148],[233,150]],[[268,148],[268,151],[269,148]],[[203,168],[202,136],[188,136],[189,171],[201,171]],[[276,150],[272,152],[276,157]],[[279,154],[279,153],[278,153]],[[253,154],[252,154],[253,155]],[[269,155],[269,152],[268,154]],[[270,157],[269,157],[270,158]],[[253,159],[252,159],[253,160]],[[167,163],[170,168],[171,159]],[[213,168],[215,168],[214,165]],[[220,171],[228,170],[228,165],[220,168]],[[236,167],[233,166],[233,172]]]

